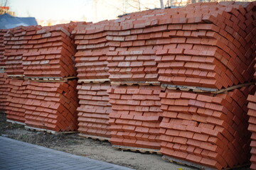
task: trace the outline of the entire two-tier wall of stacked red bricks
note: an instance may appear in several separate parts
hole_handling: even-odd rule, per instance
[[[223,94],[156,85],[225,89],[255,81],[255,8],[255,2],[198,3],[68,29],[6,30],[0,64],[7,74],[70,77],[77,69],[81,82],[0,73],[0,93],[9,91],[7,118],[56,131],[75,130],[78,121],[80,134],[107,137],[113,145],[160,149],[213,169],[249,161],[256,169],[255,85]]]

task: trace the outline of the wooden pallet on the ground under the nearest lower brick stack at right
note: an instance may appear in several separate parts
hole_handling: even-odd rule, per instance
[[[181,159],[176,159],[174,157],[169,157],[169,156],[166,156],[164,155],[162,157],[162,159],[164,159],[165,161],[168,161],[168,162],[171,162],[171,163],[175,163],[175,164],[181,164],[183,166],[192,166],[192,167],[195,167],[197,169],[203,169],[203,170],[214,170],[214,168],[210,168],[208,166],[203,166],[203,165],[200,165],[200,164],[195,164],[193,162],[188,162],[188,161],[184,161],[184,160],[181,160]],[[239,165],[239,166],[235,166],[233,168],[227,168],[225,170],[231,170],[231,169],[242,169],[242,168],[245,168],[245,167],[249,167],[250,164],[243,164],[243,165]]]

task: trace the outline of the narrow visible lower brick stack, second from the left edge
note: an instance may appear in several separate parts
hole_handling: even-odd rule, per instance
[[[5,82],[9,88],[6,96],[5,113],[7,120],[16,121],[16,123],[25,123],[25,111],[27,94],[27,81],[23,79],[7,79]]]

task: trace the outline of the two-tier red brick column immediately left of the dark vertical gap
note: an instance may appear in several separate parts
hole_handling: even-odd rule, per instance
[[[47,79],[46,82],[30,81],[26,93],[26,125],[53,131],[77,130],[78,96],[74,77],[75,44],[71,32],[76,23],[49,27],[26,28],[27,41],[23,46],[23,69],[27,79]],[[58,81],[59,78],[60,81]]]

